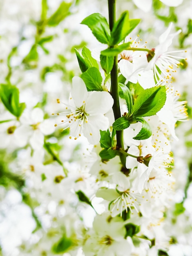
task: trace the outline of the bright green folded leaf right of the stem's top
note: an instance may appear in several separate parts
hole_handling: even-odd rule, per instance
[[[111,32],[111,45],[117,45],[138,25],[139,19],[129,20],[129,13],[125,11],[115,23]]]

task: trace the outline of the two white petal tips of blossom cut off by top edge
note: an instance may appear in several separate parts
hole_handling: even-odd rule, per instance
[[[176,7],[183,2],[183,0],[160,0],[163,4]],[[147,12],[152,7],[152,0],[133,0],[134,4],[141,10]]]

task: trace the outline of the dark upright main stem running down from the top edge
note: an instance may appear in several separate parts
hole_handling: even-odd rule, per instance
[[[108,0],[108,9],[109,9],[109,27],[112,31],[115,20],[116,20],[116,0]],[[119,105],[119,96],[118,96],[118,66],[117,66],[117,56],[114,57],[114,65],[111,71],[111,94],[114,99],[113,112],[115,120],[121,117],[120,105]],[[123,130],[116,131],[117,144],[116,148],[124,149],[123,144]],[[120,153],[121,163],[125,167],[126,156]]]

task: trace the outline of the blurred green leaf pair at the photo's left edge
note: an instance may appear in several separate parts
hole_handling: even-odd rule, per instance
[[[1,84],[0,98],[5,108],[16,117],[20,117],[25,109],[25,103],[19,103],[19,90],[16,86]]]

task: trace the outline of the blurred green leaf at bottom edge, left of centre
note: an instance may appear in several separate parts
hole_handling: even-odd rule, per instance
[[[73,240],[68,238],[66,235],[63,235],[57,243],[55,243],[52,247],[52,251],[54,254],[61,254],[67,252],[69,248],[73,245]]]

